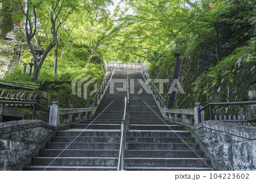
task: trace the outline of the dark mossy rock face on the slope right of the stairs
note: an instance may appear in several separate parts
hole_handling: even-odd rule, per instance
[[[208,65],[205,62],[208,62]],[[202,86],[207,87],[209,91],[207,94],[197,92],[193,83],[212,63],[214,64],[212,53],[204,53],[200,49],[184,57],[179,81],[185,94],[177,93],[175,104],[178,108],[193,108],[197,101],[205,106],[214,102],[240,102],[256,99],[256,65],[255,62],[243,62],[242,57],[235,62],[233,82],[226,77],[222,82],[217,82],[216,85],[210,87],[212,82],[205,79]],[[255,120],[256,105],[216,107],[213,113],[214,115],[236,113],[236,116],[245,115],[247,120]]]

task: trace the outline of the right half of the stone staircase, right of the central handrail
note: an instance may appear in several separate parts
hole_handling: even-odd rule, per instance
[[[191,137],[180,125],[164,121],[151,94],[141,89],[140,71],[129,74],[135,79],[130,94],[130,132],[127,134],[126,170],[210,170]],[[179,135],[179,137],[178,137]],[[186,142],[184,143],[181,138]],[[192,151],[190,148],[194,151]]]

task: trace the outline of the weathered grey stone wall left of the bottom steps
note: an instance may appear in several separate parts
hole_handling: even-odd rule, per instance
[[[40,120],[0,123],[0,170],[22,169],[27,159],[54,132],[55,127]]]

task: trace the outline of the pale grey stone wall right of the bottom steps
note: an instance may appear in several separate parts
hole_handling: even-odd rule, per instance
[[[256,170],[256,128],[204,121],[192,129],[216,170]]]

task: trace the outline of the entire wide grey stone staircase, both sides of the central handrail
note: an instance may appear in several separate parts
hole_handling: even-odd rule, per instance
[[[126,79],[127,71],[115,70],[113,78]],[[209,170],[205,164],[207,161],[196,155],[202,157],[203,154],[191,133],[179,125],[164,123],[151,94],[145,91],[136,94],[141,89],[137,81],[137,78],[143,79],[141,73],[129,71],[129,78],[135,79],[135,94],[130,94],[131,120],[125,169]],[[122,87],[122,83],[114,86]],[[39,157],[33,158],[32,165],[24,170],[117,170],[126,91],[114,89],[114,94],[110,94],[109,89],[94,119],[72,124],[71,129],[57,132],[46,149],[40,150]]]

